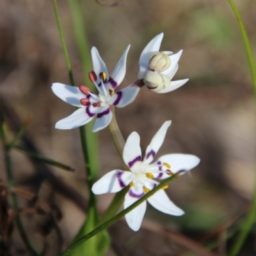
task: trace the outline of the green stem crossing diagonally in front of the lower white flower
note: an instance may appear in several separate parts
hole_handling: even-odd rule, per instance
[[[80,244],[84,243],[85,241],[87,241],[91,237],[97,235],[100,231],[104,230],[105,228],[108,228],[110,225],[112,225],[113,223],[118,221],[120,218],[124,217],[125,214],[127,214],[130,211],[132,211],[135,207],[137,207],[142,202],[147,200],[150,196],[152,196],[154,193],[156,193],[159,189],[162,189],[168,183],[172,182],[174,179],[177,179],[177,177],[179,177],[179,172],[175,173],[175,175],[173,175],[172,177],[170,177],[170,178],[164,180],[163,182],[161,182],[158,186],[156,186],[156,188],[152,189],[146,195],[142,196],[134,204],[130,205],[129,207],[124,209],[122,212],[118,213],[116,216],[114,216],[113,218],[111,218],[110,220],[106,221],[105,223],[103,223],[99,227],[95,228],[95,230],[93,230],[89,234],[86,234],[86,236],[84,236],[81,239],[79,239],[78,241],[76,241],[76,243],[72,244],[72,246],[70,246],[70,248],[68,248],[65,252],[61,253],[60,256],[70,255],[70,253],[72,253],[74,250],[76,250],[76,248]]]

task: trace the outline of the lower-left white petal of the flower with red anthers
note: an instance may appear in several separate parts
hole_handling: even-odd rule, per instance
[[[90,116],[88,113],[86,113],[86,108],[79,108],[70,116],[58,121],[55,128],[61,130],[77,128],[90,122],[93,116],[94,115]]]

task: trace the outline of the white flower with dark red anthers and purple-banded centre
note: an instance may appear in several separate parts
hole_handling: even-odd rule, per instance
[[[111,76],[108,76],[108,69],[100,58],[99,52],[92,47],[93,71],[89,73],[90,80],[95,84],[99,94],[90,92],[87,86],[80,85],[78,88],[61,83],[53,83],[52,91],[60,99],[72,106],[79,107],[72,115],[58,121],[57,129],[72,129],[90,122],[97,116],[93,125],[93,132],[104,129],[112,119],[110,105],[123,108],[131,103],[140,88],[128,86],[118,92],[116,87],[123,81],[126,71],[126,58],[130,45],[125,49],[124,54],[118,61]]]

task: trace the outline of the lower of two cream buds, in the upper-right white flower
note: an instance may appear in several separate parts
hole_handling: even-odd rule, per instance
[[[166,88],[171,84],[168,76],[154,71],[146,71],[143,81],[148,90],[152,92],[160,92],[163,88]]]

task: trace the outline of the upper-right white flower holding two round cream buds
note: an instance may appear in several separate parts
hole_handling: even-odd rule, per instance
[[[188,79],[171,81],[178,70],[178,61],[182,54],[182,50],[176,54],[173,54],[173,52],[170,51],[159,52],[163,35],[164,33],[161,33],[154,37],[141,52],[140,71],[138,73],[138,79],[143,79],[146,88],[157,93],[172,92],[188,81]],[[166,58],[170,58],[170,62]],[[156,83],[158,79],[156,78],[156,82],[154,81],[152,84],[152,80],[150,79],[150,81],[148,81],[147,79],[149,76],[148,72],[156,72],[161,74],[162,77],[166,76],[170,83],[159,83],[159,88],[157,88]],[[150,74],[150,78],[151,77],[152,74]],[[164,80],[166,80],[166,77]]]

